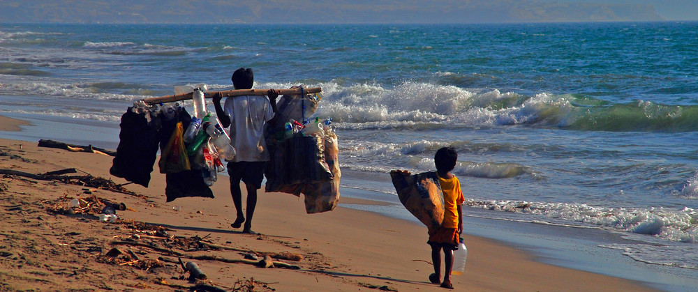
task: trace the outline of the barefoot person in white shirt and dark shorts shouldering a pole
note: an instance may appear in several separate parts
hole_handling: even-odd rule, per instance
[[[250,68],[239,68],[232,73],[232,85],[235,89],[252,89],[254,74]],[[265,164],[269,161],[269,151],[264,139],[264,125],[274,125],[276,121],[276,98],[279,91],[269,89],[269,99],[262,95],[243,95],[227,98],[221,107],[222,96],[214,96],[216,114],[223,128],[230,126],[230,144],[235,147],[237,155],[228,162],[230,175],[230,194],[235,203],[237,218],[230,224],[240,228],[244,223],[243,233],[252,233],[252,215],[257,205],[257,190],[262,187]],[[246,217],[242,213],[242,190],[240,181],[247,188]]]

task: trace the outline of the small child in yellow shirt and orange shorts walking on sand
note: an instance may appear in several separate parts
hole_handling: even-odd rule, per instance
[[[429,245],[431,245],[431,261],[434,272],[429,275],[429,281],[439,284],[441,279],[441,250],[444,258],[444,277],[441,287],[453,289],[451,270],[453,268],[453,251],[458,249],[460,234],[463,232],[463,213],[461,204],[465,199],[461,191],[461,183],[451,174],[456,167],[458,153],[453,148],[444,147],[436,151],[434,164],[443,192],[444,214],[443,223],[436,230],[429,230]]]

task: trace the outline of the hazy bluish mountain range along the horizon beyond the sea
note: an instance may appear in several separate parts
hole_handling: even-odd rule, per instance
[[[658,20],[662,20],[662,17],[651,5],[550,0],[0,1],[0,22],[4,23],[312,24]]]

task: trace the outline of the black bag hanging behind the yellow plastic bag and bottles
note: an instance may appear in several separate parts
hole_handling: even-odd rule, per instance
[[[161,115],[161,117],[163,126],[158,135],[158,139],[160,140],[160,150],[163,151],[168,141],[170,141],[170,137],[172,136],[172,132],[174,132],[174,128],[177,126],[177,122],[181,122],[182,128],[186,129],[189,123],[191,123],[191,116],[186,112],[186,109],[180,108],[175,118],[167,120],[164,115]],[[168,202],[184,197],[214,197],[211,188],[204,183],[204,178],[201,176],[201,169],[194,169],[194,166],[191,170],[180,171],[175,174],[165,174],[165,181],[167,182],[165,196]]]

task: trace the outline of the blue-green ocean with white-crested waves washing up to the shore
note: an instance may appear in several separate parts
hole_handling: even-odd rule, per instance
[[[322,87],[315,116],[339,135],[343,196],[396,202],[388,172],[432,170],[452,146],[466,233],[688,291],[697,64],[698,22],[0,24],[0,114],[34,124],[0,137],[116,148],[135,100],[231,89],[235,69],[253,68],[256,89]],[[580,246],[625,266],[584,264]]]

